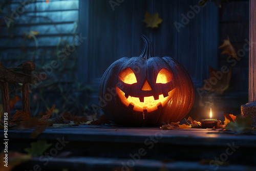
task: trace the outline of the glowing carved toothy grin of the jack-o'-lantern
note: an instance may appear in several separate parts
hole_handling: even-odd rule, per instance
[[[152,112],[164,106],[165,103],[169,101],[169,99],[173,96],[176,88],[169,91],[168,95],[165,94],[165,96],[163,94],[160,94],[158,96],[148,96],[144,98],[132,97],[130,95],[127,95],[118,87],[116,87],[116,91],[123,104],[126,105],[126,107],[128,107],[129,109],[140,112]]]

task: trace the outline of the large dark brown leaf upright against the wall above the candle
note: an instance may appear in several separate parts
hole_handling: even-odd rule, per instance
[[[220,95],[223,95],[223,93],[229,87],[230,79],[232,76],[232,67],[229,68],[229,71],[227,73],[223,73],[209,66],[209,72],[210,72],[209,78],[205,81],[204,86],[199,90],[216,92]]]

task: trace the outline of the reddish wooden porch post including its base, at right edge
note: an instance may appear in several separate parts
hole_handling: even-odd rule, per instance
[[[250,0],[249,102],[241,106],[243,116],[251,116],[256,126],[256,1]]]

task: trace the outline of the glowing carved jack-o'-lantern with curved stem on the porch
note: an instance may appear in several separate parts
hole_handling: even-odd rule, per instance
[[[139,57],[116,60],[101,78],[99,101],[114,123],[159,126],[177,122],[190,111],[195,98],[187,71],[171,57],[153,57],[144,35]]]

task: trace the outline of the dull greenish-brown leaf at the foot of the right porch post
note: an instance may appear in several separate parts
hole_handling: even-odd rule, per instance
[[[229,130],[238,134],[252,131],[252,123],[250,116],[243,117],[238,115],[236,121],[229,122],[225,126],[225,130]]]

